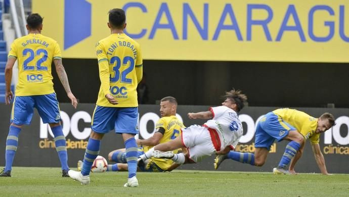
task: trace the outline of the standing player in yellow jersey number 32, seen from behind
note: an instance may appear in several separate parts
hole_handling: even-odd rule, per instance
[[[138,133],[137,84],[143,75],[140,45],[123,33],[125,13],[121,9],[109,11],[111,34],[96,45],[101,88],[93,114],[92,132],[83,159],[81,173],[70,170],[69,176],[82,184],[90,184],[90,171],[98,156],[101,139],[115,129],[125,142],[128,180],[125,187],[137,187]]]

